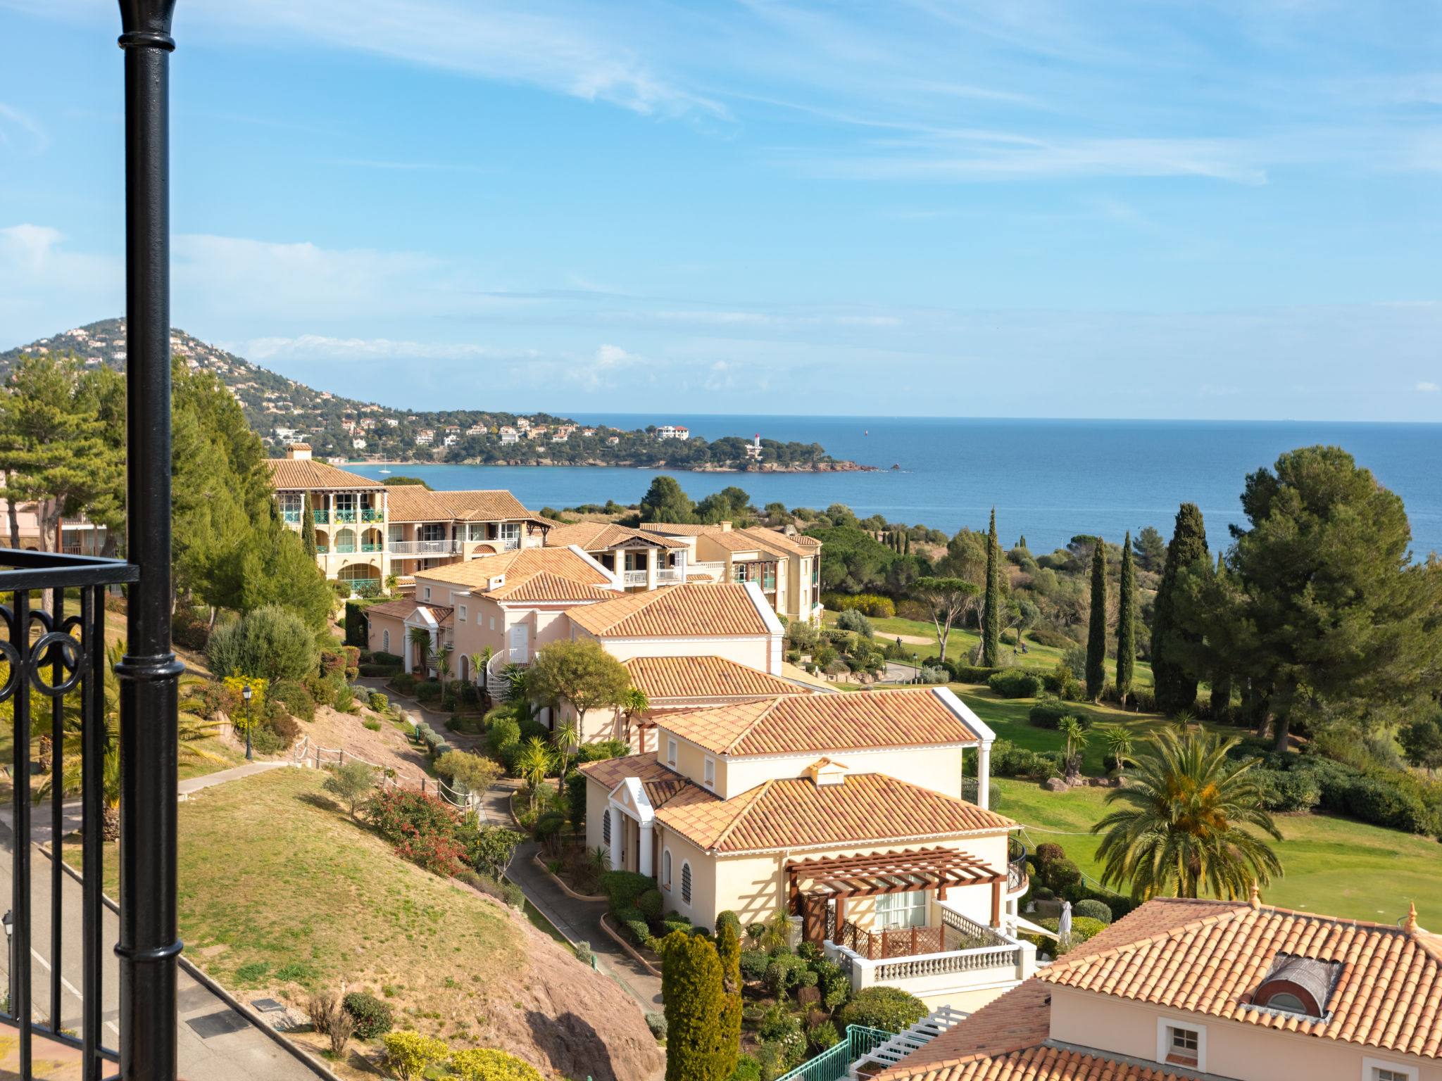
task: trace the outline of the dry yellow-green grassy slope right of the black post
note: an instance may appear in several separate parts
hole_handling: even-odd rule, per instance
[[[515,927],[495,905],[397,859],[330,804],[322,780],[271,770],[180,804],[186,954],[242,997],[297,993],[296,984],[345,982],[378,995],[389,986],[397,1028],[464,1041],[485,1023],[487,973],[523,963]],[[79,866],[78,850],[66,859]],[[114,891],[114,849],[104,878]],[[278,980],[286,966],[298,967]]]

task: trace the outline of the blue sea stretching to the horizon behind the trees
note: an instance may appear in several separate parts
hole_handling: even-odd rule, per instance
[[[1051,421],[906,417],[688,417],[578,414],[584,424],[643,428],[684,424],[692,435],[819,442],[836,458],[877,466],[877,473],[675,471],[701,499],[728,484],[756,506],[771,502],[823,510],[845,503],[861,517],[917,522],[947,533],[985,529],[992,506],[1007,545],[1025,536],[1050,552],[1077,533],[1120,540],[1155,526],[1171,536],[1177,506],[1197,503],[1213,551],[1229,543],[1227,525],[1243,523],[1246,474],[1283,451],[1334,444],[1402,496],[1413,551],[1442,552],[1442,425],[1306,421]],[[575,438],[575,437],[572,437]],[[893,468],[893,466],[898,468]],[[381,477],[376,466],[352,466]],[[417,466],[435,489],[510,489],[534,509],[580,503],[636,503],[656,470]]]

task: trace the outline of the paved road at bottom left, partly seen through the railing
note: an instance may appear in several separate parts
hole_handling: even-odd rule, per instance
[[[6,809],[9,810],[9,809]],[[39,810],[39,809],[35,809]],[[68,817],[68,816],[66,816]],[[13,897],[13,832],[9,823],[0,846],[0,904],[10,907]],[[46,830],[48,833],[48,830]],[[33,1019],[49,1023],[50,1018],[50,859],[36,845],[30,848],[30,911],[32,911],[32,1006]],[[79,1032],[81,1028],[81,884],[71,875],[61,875],[61,1028]],[[117,1046],[120,967],[114,947],[120,938],[120,917],[104,908],[102,977],[104,1012],[101,1039]],[[9,986],[10,964],[0,951],[0,987]],[[261,1032],[242,1013],[198,983],[185,970],[179,974],[176,1006],[180,1019],[177,1048],[180,1075],[190,1081],[316,1081],[316,1071],[296,1059],[274,1039]]]

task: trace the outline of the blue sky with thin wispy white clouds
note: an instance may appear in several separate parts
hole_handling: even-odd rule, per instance
[[[0,0],[0,347],[123,310]],[[1442,419],[1442,9],[179,0],[174,321],[415,408]]]

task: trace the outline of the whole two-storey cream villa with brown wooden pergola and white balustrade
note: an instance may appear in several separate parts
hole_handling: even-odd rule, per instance
[[[715,587],[709,587],[715,588]],[[1024,865],[985,806],[992,732],[945,688],[790,693],[652,716],[658,749],[591,762],[587,843],[712,925],[784,907],[857,987],[975,1009],[1025,979]],[[981,804],[962,798],[963,752]]]

